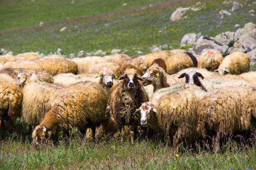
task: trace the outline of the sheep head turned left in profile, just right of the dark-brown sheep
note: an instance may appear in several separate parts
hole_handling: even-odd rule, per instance
[[[141,77],[143,79],[142,85],[147,86],[160,83],[163,72],[163,68],[159,67],[157,63],[152,64],[147,72]]]

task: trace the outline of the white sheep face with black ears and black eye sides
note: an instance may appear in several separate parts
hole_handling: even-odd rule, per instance
[[[201,73],[196,72],[195,70],[190,69],[186,73],[180,74],[180,78],[186,77],[186,83],[188,84],[195,84],[200,85],[200,81],[198,77],[201,77],[201,79],[204,79],[204,76]]]

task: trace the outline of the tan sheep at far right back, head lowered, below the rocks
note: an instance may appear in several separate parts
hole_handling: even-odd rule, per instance
[[[242,74],[250,70],[250,57],[240,51],[235,51],[227,55],[218,69],[215,70],[221,75],[225,74]]]

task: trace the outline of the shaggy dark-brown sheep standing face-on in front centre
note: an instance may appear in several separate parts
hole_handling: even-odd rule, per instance
[[[138,77],[134,69],[126,69],[125,74],[119,77],[119,80],[124,81],[116,86],[109,97],[108,103],[119,127],[121,142],[125,135],[124,127],[129,125],[131,126],[131,142],[134,143],[139,121],[132,113],[140,107],[141,103],[148,101],[148,96],[138,81],[143,79]]]

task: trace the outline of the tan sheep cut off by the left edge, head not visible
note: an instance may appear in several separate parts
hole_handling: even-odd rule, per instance
[[[15,79],[6,74],[0,74],[0,78],[0,127],[9,130],[20,115],[23,96]]]

